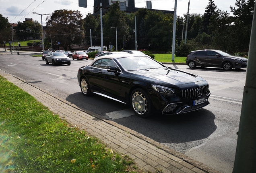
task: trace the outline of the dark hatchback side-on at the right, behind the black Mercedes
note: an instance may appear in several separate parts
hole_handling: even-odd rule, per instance
[[[221,50],[196,50],[192,51],[186,59],[189,68],[201,67],[221,67],[224,70],[232,68],[240,69],[247,67],[247,58],[233,56]]]

